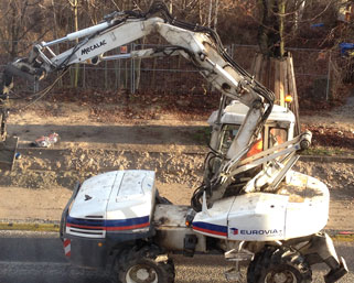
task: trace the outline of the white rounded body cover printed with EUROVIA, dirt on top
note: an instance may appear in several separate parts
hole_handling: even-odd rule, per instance
[[[326,225],[330,195],[317,178],[291,172],[277,194],[250,193],[217,200],[197,213],[193,230],[214,238],[273,241],[319,232]]]

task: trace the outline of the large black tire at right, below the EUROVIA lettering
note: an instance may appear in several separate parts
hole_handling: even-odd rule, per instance
[[[304,258],[290,248],[266,247],[248,265],[247,283],[311,283]]]

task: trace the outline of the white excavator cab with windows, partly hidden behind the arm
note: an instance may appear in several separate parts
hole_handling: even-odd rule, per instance
[[[233,100],[226,107],[214,111],[208,118],[207,123],[212,128],[210,146],[212,152],[216,154],[210,154],[208,162],[206,163],[205,177],[208,176],[210,178],[222,166],[226,153],[233,140],[238,134],[247,112],[247,106],[237,100]],[[243,159],[250,157],[259,152],[292,140],[294,138],[294,123],[296,117],[289,109],[275,105],[261,132]],[[280,160],[281,156],[278,159]],[[258,172],[264,165],[260,165],[256,171]],[[246,173],[246,175],[254,175],[254,173],[255,171],[253,170]]]

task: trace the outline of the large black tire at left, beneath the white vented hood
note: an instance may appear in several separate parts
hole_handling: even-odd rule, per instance
[[[160,254],[157,246],[125,250],[116,264],[116,279],[120,283],[173,283],[173,261],[159,260]]]

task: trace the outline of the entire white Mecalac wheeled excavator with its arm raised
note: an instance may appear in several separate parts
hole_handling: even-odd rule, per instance
[[[168,44],[129,54],[105,55],[150,34]],[[55,54],[52,46],[72,43]],[[221,253],[235,266],[232,282],[312,282],[311,266],[325,263],[326,283],[347,273],[343,258],[322,231],[329,189],[292,170],[311,133],[293,137],[291,111],[273,106],[275,95],[225,51],[217,33],[173,18],[163,2],[147,12],[116,11],[94,26],[34,44],[25,58],[3,73],[1,101],[11,97],[13,77],[31,80],[62,75],[73,64],[180,55],[221,92],[211,151],[201,186],[190,206],[159,195],[152,171],[114,171],[77,184],[63,210],[61,239],[73,264],[111,268],[115,282],[171,283],[172,253]],[[2,109],[6,109],[4,107]],[[2,140],[10,138],[4,129]],[[15,143],[15,142],[14,142]],[[256,150],[255,150],[256,149]],[[248,262],[246,279],[240,262]]]

